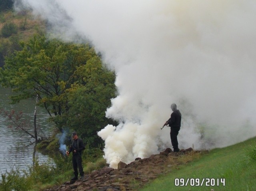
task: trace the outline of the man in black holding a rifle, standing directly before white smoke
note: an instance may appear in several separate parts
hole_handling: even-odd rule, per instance
[[[169,125],[169,127],[171,127],[170,135],[173,151],[178,152],[180,149],[178,147],[177,135],[180,131],[181,113],[180,110],[177,109],[177,105],[175,103],[172,103],[171,109],[173,111],[171,117],[166,121],[166,123],[164,123],[164,125]]]

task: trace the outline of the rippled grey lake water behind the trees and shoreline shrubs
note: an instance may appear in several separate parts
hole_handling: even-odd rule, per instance
[[[22,111],[24,118],[30,121],[30,126],[33,127],[35,100],[29,99],[20,103],[10,105],[8,98],[12,94],[10,89],[0,86],[0,108],[5,110]],[[48,114],[43,108],[38,107],[37,122],[46,136],[52,132],[52,124],[47,121]],[[47,155],[34,150],[34,144],[30,141],[34,139],[29,135],[24,134],[20,130],[8,128],[11,123],[6,121],[6,117],[0,115],[0,173],[10,171],[12,168],[28,169],[28,165],[33,164],[33,156],[37,157],[39,162],[51,161]],[[32,131],[33,132],[33,131]],[[40,133],[39,133],[40,134]]]

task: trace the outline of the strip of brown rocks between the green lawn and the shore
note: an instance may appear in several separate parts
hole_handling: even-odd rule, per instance
[[[156,175],[168,173],[172,166],[178,164],[180,155],[195,152],[192,148],[178,153],[167,148],[165,151],[148,158],[136,158],[130,164],[118,163],[118,169],[104,167],[84,176],[76,182],[66,182],[47,191],[128,191],[145,185]]]

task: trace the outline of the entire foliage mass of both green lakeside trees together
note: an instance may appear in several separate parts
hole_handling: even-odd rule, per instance
[[[114,73],[88,44],[34,36],[22,48],[0,70],[2,85],[18,93],[12,101],[38,96],[38,105],[59,129],[74,129],[88,142],[100,143],[96,132],[113,122],[105,111],[116,92]]]

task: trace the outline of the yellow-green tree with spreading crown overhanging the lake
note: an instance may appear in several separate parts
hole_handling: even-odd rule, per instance
[[[95,52],[88,45],[46,40],[34,36],[22,50],[6,58],[2,70],[2,83],[18,95],[11,96],[14,103],[36,97],[49,115],[62,115],[66,109],[65,90],[74,83],[74,72],[86,64]]]

